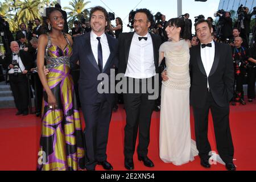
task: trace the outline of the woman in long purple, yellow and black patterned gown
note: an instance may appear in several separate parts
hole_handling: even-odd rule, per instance
[[[72,38],[63,34],[64,19],[59,10],[46,10],[47,34],[40,35],[38,74],[44,87],[42,137],[38,170],[84,169],[85,151],[69,57]],[[44,74],[44,58],[48,74]]]

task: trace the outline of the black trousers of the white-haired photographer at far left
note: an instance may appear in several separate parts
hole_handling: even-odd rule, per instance
[[[27,76],[22,74],[18,76],[9,75],[9,80],[16,108],[20,112],[28,111]]]

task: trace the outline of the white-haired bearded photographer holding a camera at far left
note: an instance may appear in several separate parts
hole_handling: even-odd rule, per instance
[[[11,42],[11,53],[5,57],[3,67],[7,69],[14,102],[18,112],[16,115],[28,114],[28,81],[27,72],[31,69],[31,55],[19,49],[19,44]]]

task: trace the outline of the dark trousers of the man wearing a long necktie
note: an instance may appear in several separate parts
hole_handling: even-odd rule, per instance
[[[88,97],[88,96],[86,96]],[[109,136],[109,124],[112,116],[112,104],[105,94],[98,94],[95,104],[82,103],[82,113],[85,119],[85,153],[86,169],[95,168],[97,162],[107,159],[106,147]]]

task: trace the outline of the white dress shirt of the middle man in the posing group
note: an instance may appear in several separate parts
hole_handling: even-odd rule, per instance
[[[139,35],[136,32],[133,35],[125,72],[126,77],[150,78],[156,75],[151,35],[147,33],[143,37],[147,37],[147,40],[139,41]]]

